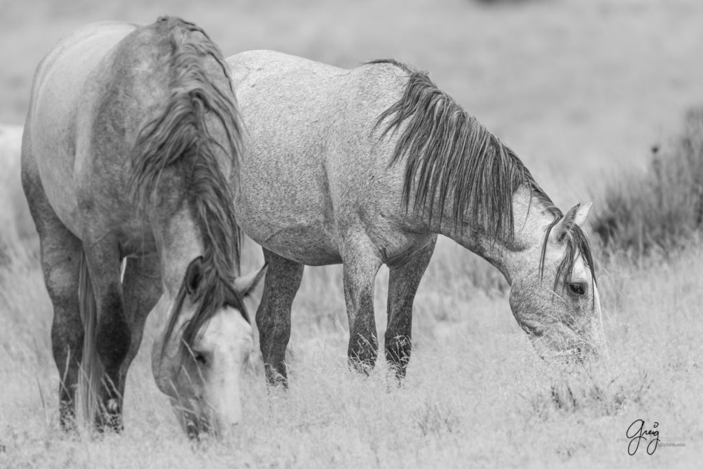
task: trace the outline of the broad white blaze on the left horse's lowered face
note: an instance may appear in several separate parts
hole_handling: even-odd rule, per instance
[[[204,358],[202,405],[209,408],[219,435],[242,419],[240,376],[253,345],[252,326],[233,308],[222,309],[210,319],[194,344],[194,352]]]

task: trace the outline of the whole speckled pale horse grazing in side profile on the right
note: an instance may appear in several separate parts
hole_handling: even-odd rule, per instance
[[[273,51],[227,62],[248,131],[235,211],[269,264],[256,321],[270,383],[287,379],[305,264],[343,264],[348,356],[362,371],[378,354],[373,285],[387,264],[385,355],[403,378],[413,298],[438,234],[503,273],[541,354],[601,349],[580,228],[591,204],[562,214],[515,153],[425,73],[394,60],[343,70]]]

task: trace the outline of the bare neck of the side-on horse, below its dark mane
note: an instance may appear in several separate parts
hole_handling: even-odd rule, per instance
[[[531,191],[520,186],[512,196],[513,226],[510,233],[486,233],[472,230],[467,226],[456,226],[446,210],[440,226],[430,226],[430,231],[455,240],[464,248],[475,252],[501,271],[508,283],[512,284],[515,274],[525,265],[527,257],[534,249],[540,249],[548,226],[554,215],[543,206]]]

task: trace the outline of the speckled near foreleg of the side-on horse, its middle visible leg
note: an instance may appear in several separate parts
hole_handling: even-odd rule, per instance
[[[344,300],[349,319],[347,359],[352,369],[370,373],[378,356],[378,337],[373,316],[373,283],[381,266],[368,250],[345,248]]]

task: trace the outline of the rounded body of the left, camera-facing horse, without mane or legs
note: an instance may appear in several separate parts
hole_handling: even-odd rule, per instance
[[[129,158],[146,124],[169,105],[179,74],[189,70],[174,69],[174,34],[193,32],[179,20],[96,23],[61,41],[39,65],[27,118],[28,158],[54,211],[79,237],[86,230],[138,236],[143,228],[129,194]],[[231,88],[216,60],[204,63],[205,79]],[[214,138],[225,141],[224,124],[208,119],[215,122],[209,125]]]

